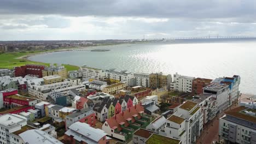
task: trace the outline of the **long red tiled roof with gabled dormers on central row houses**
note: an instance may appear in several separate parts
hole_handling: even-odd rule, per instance
[[[136,109],[135,109],[136,107]],[[144,108],[138,104],[136,106],[131,107],[131,109],[127,109],[124,112],[118,113],[117,115],[107,119],[107,123],[110,128],[118,128],[118,131],[122,130],[119,123],[124,123],[124,125],[127,127],[129,123],[126,119],[130,119],[132,122],[135,122],[135,118],[132,115],[137,115],[138,119],[141,119],[141,115],[139,112],[144,111]]]

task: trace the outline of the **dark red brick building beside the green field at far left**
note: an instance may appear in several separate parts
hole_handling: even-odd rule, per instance
[[[44,65],[24,65],[21,67],[14,68],[14,75],[25,77],[26,75],[29,76],[36,76],[36,77],[43,77],[42,70],[44,70]]]

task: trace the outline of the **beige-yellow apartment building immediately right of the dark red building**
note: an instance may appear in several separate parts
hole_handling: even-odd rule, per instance
[[[50,67],[45,67],[44,70],[42,70],[43,77],[49,76],[49,75],[59,75],[62,77],[62,79],[67,78],[67,69],[62,66],[61,64],[50,64]]]

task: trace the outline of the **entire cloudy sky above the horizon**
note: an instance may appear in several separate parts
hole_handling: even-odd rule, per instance
[[[255,0],[0,0],[0,40],[255,33]]]

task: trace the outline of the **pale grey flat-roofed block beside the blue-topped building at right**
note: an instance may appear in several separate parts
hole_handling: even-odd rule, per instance
[[[222,112],[229,106],[229,86],[224,84],[212,83],[203,88],[203,94],[213,94],[213,98],[217,100],[217,111]]]

